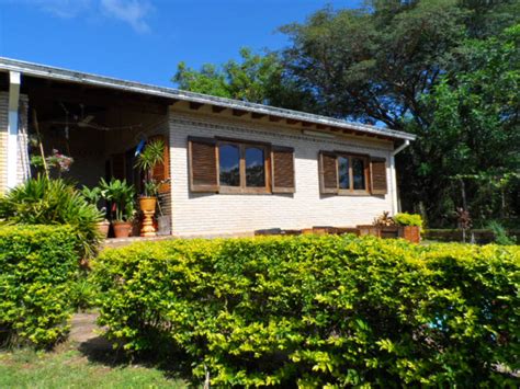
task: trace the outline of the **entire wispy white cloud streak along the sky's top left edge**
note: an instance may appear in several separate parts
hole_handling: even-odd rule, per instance
[[[20,0],[19,0],[20,1]],[[102,16],[116,19],[127,23],[138,33],[150,31],[146,19],[154,10],[149,0],[22,0],[26,4],[36,5],[57,18],[92,18]]]

